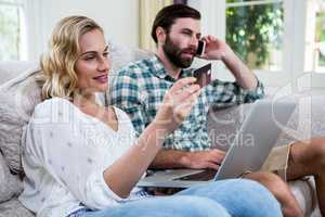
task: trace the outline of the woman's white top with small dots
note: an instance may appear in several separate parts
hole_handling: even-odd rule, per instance
[[[38,104],[23,137],[26,178],[20,201],[37,216],[64,217],[143,196],[134,188],[121,199],[104,181],[103,171],[135,141],[130,118],[117,107],[115,113],[117,131],[65,99]]]

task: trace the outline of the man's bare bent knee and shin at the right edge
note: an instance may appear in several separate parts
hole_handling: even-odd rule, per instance
[[[314,176],[320,209],[325,216],[325,139],[311,139],[292,144],[287,177],[288,180]]]

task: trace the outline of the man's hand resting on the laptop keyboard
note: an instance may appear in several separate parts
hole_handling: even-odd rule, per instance
[[[185,168],[192,169],[219,169],[225,152],[220,150],[210,150],[202,152],[186,152],[181,158]]]

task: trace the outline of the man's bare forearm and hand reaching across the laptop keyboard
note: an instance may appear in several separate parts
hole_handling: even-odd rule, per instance
[[[193,168],[218,169],[225,153],[220,150],[186,152],[177,150],[160,150],[150,168]]]

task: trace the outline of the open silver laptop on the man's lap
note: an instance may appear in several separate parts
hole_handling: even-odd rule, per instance
[[[257,171],[296,107],[295,102],[257,101],[245,118],[219,168],[216,170],[168,169],[156,171],[138,182],[138,187],[188,188],[209,181],[237,178]]]

